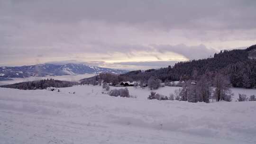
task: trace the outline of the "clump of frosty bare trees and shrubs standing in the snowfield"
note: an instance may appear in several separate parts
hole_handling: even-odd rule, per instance
[[[159,82],[152,78],[149,79],[151,83],[156,85]],[[210,99],[215,99],[216,101],[224,100],[231,101],[233,93],[229,89],[231,84],[227,76],[221,73],[217,73],[213,78],[211,78],[210,73],[200,76],[198,81],[188,80],[181,83],[182,88],[177,89],[174,93],[171,93],[169,98],[167,96],[156,94],[151,92],[148,99],[158,99],[158,100],[180,100],[188,102],[206,102],[209,103]],[[148,85],[150,88],[150,85]],[[153,88],[155,89],[155,88]]]

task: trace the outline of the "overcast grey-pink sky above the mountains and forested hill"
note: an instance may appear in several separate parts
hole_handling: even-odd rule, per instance
[[[148,69],[256,44],[256,0],[0,0],[0,65]]]

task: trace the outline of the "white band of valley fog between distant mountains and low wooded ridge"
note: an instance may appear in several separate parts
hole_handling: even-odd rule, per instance
[[[55,80],[61,80],[61,81],[79,81],[83,78],[89,78],[95,76],[95,74],[78,74],[78,75],[62,75],[62,76],[46,76],[46,77],[35,77],[31,76],[28,78],[10,78],[13,80],[10,81],[0,81],[0,85],[5,85],[5,84],[13,84],[13,83],[18,83],[18,82],[24,82],[24,81],[37,81],[37,80],[44,80],[44,79],[55,79]]]

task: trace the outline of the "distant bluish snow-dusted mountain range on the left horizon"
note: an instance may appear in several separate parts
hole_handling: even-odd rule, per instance
[[[0,67],[0,80],[6,80],[8,78],[26,78],[30,76],[44,77],[46,75],[60,76],[60,75],[77,75],[85,73],[101,73],[109,72],[115,74],[121,74],[128,72],[126,70],[102,68],[98,66],[90,66],[86,64],[74,64],[68,63],[64,65],[57,64],[37,64],[37,65],[25,65],[15,67]]]

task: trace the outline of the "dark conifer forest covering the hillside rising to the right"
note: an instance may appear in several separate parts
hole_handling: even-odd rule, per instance
[[[212,78],[217,73],[221,73],[228,77],[233,87],[254,88],[256,87],[256,59],[248,58],[248,54],[253,50],[256,50],[256,45],[245,50],[220,51],[212,58],[179,62],[173,67],[150,69],[145,72],[132,71],[120,76],[128,81],[146,83],[152,76],[161,81],[188,81],[199,80],[206,73],[210,73]]]

